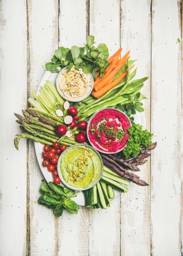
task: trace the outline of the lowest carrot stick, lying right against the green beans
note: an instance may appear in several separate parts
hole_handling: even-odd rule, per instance
[[[130,67],[130,69],[132,69],[134,67],[134,65],[132,65]],[[118,77],[118,79],[114,80],[113,82],[107,84],[105,87],[97,90],[97,92],[93,92],[92,95],[95,97],[95,98],[100,98],[103,96],[103,94],[105,94],[106,92],[108,92],[110,89],[112,89],[114,86],[116,86],[117,84],[119,84],[119,82],[127,75],[128,73],[128,70],[125,71],[122,75],[120,75]]]

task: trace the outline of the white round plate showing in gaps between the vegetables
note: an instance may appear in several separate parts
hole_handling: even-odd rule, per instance
[[[38,86],[38,90],[37,90],[36,93],[39,94],[40,86],[44,85],[47,80],[52,81],[53,84],[55,84],[57,75],[58,75],[57,73],[51,73],[49,71],[45,71],[45,73],[44,73],[44,75],[43,75],[43,77],[40,81],[40,84]],[[43,144],[41,144],[39,142],[34,142],[34,146],[35,146],[36,158],[38,159],[38,164],[39,164],[40,170],[41,170],[41,172],[44,176],[44,179],[47,182],[53,181],[53,177],[52,177],[51,172],[48,172],[47,168],[42,166],[43,158],[42,158],[41,154],[43,152]],[[115,193],[114,199],[115,199],[115,197],[120,195],[120,192],[118,192],[116,190],[114,190],[114,193]],[[73,197],[73,200],[78,205],[85,206],[85,199],[84,199],[84,195],[83,195],[82,192],[78,192],[77,197]]]

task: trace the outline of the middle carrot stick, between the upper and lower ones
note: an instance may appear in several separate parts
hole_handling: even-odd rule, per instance
[[[130,51],[128,51],[126,53],[126,55],[124,55],[120,61],[120,63],[118,63],[118,65],[113,69],[113,71],[110,72],[110,74],[106,77],[104,77],[102,79],[101,82],[99,82],[97,85],[94,85],[94,89],[95,90],[99,90],[101,89],[103,86],[105,86],[106,84],[109,83],[109,81],[115,76],[117,75],[118,71],[123,67],[123,65],[126,63],[127,61],[127,57],[129,55]]]

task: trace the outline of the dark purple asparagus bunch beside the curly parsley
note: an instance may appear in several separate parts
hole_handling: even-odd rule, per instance
[[[148,156],[151,155],[148,152],[155,149],[156,145],[157,142],[154,142],[150,147],[142,148],[140,155],[131,160],[125,160],[118,155],[101,154],[103,164],[105,164],[106,167],[110,168],[124,179],[130,180],[137,185],[147,186],[148,184],[144,180],[140,180],[138,175],[130,172],[129,170],[140,171],[138,166],[147,162],[145,158],[148,158]]]

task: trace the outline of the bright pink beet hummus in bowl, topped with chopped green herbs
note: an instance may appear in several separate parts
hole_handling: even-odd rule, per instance
[[[117,109],[103,109],[91,117],[88,126],[90,143],[99,151],[119,152],[126,146],[131,122]]]

